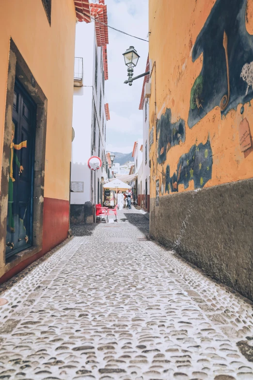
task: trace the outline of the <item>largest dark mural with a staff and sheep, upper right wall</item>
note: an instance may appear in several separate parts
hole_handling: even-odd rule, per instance
[[[190,93],[192,128],[214,107],[221,116],[253,99],[253,36],[246,30],[247,0],[216,0],[192,50],[203,66]]]

